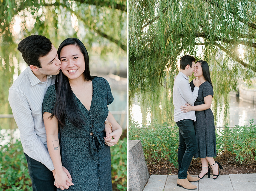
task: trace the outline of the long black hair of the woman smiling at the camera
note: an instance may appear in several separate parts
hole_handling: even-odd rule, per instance
[[[85,80],[92,80],[95,76],[90,75],[89,70],[89,56],[88,52],[83,45],[83,43],[77,38],[67,38],[64,40],[59,48],[58,48],[58,56],[60,59],[60,51],[63,47],[68,45],[74,45],[80,49],[83,54],[84,62],[85,62],[85,70],[83,72]],[[73,92],[71,90],[68,77],[65,76],[62,71],[56,76],[55,81],[55,89],[56,89],[56,104],[54,108],[54,113],[50,116],[52,118],[54,115],[57,118],[60,126],[63,128],[65,125],[65,116],[67,115],[69,121],[75,126],[81,126],[81,123],[84,123],[81,117],[79,116],[78,106],[74,102]],[[79,124],[80,122],[80,124]]]

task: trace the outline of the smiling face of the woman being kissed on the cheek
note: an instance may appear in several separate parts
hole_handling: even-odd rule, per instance
[[[60,51],[61,71],[69,79],[84,78],[84,57],[77,46],[68,45]]]

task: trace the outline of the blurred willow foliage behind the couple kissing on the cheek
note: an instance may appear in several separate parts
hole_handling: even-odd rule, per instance
[[[44,35],[57,48],[67,37],[79,38],[90,55],[103,59],[127,54],[126,0],[0,0],[0,113],[11,113],[8,89],[24,62],[20,40]]]

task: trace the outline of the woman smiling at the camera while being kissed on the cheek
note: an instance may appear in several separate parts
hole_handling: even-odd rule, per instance
[[[111,191],[109,146],[118,142],[122,128],[108,111],[107,105],[113,102],[109,83],[90,75],[87,50],[77,38],[64,40],[58,56],[61,71],[42,105],[56,186],[58,190]],[[108,139],[104,137],[106,118],[113,131]],[[62,166],[68,169],[72,182]]]

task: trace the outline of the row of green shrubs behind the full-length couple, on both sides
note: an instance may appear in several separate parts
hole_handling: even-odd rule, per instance
[[[178,127],[168,128],[168,124],[153,122],[148,127],[140,128],[138,124],[129,123],[129,140],[141,140],[146,162],[168,160],[177,167],[179,144]],[[235,155],[236,161],[251,163],[256,161],[256,128],[253,120],[249,126],[224,128],[216,132],[218,154]]]

